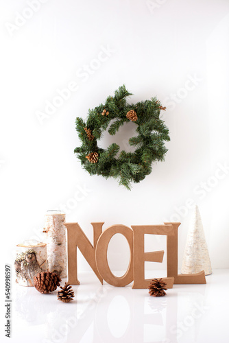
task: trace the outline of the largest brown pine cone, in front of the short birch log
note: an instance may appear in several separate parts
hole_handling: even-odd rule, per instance
[[[48,294],[60,286],[60,276],[56,273],[41,272],[34,276],[34,286],[40,293]]]

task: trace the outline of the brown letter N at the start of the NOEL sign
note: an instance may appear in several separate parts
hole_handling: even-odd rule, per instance
[[[88,237],[86,237],[78,223],[64,223],[68,233],[68,283],[71,285],[80,285],[80,281],[77,279],[77,247],[82,252],[82,255],[93,269],[93,272],[96,274],[101,284],[103,284],[103,279],[97,270],[95,262],[95,247],[99,236],[101,235],[101,229],[104,223],[91,224],[94,230],[94,246],[91,244]]]

